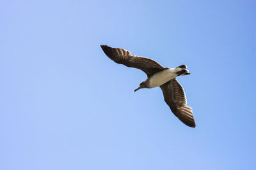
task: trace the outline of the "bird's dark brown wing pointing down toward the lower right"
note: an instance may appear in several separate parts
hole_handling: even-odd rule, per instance
[[[172,79],[160,86],[164,101],[168,104],[174,115],[189,127],[196,127],[192,109],[186,105],[185,92],[176,79]]]

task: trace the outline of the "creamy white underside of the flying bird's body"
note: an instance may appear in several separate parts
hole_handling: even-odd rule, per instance
[[[176,69],[164,69],[149,78],[149,88],[159,87],[169,80],[177,77]]]

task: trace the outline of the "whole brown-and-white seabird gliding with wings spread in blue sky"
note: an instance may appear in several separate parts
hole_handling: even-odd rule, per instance
[[[123,48],[112,48],[108,45],[100,46],[109,59],[114,62],[141,69],[147,74],[147,79],[142,81],[134,92],[144,88],[160,87],[163,91],[164,101],[173,114],[185,125],[196,127],[192,108],[186,105],[186,94],[179,81],[176,80],[177,76],[190,74],[186,65],[183,64],[175,68],[163,67],[155,60],[132,55],[131,52]]]

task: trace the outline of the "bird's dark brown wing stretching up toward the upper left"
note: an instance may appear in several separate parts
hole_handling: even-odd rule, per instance
[[[107,45],[100,46],[104,53],[106,53],[106,55],[109,57],[109,59],[115,61],[118,64],[124,64],[127,67],[141,69],[147,74],[148,77],[165,69],[163,66],[152,59],[132,55],[131,52],[122,48],[111,48]]]

